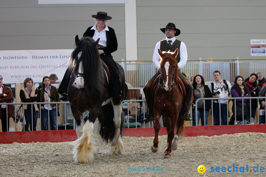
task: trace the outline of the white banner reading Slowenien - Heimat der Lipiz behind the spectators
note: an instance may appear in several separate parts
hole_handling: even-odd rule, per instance
[[[73,49],[0,50],[0,75],[3,83],[23,83],[29,77],[41,83],[43,76],[56,74],[61,82]]]

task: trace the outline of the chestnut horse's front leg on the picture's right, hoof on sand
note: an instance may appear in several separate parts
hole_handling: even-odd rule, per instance
[[[166,149],[166,153],[164,154],[164,158],[171,158],[171,152],[172,152],[172,141],[174,138],[174,131],[176,127],[177,118],[174,117],[175,114],[172,114],[169,116],[171,118],[171,125],[170,129],[167,131],[167,139],[168,139],[168,147]]]

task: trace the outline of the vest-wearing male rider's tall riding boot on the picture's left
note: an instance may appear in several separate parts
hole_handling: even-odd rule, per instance
[[[145,99],[147,102],[147,107],[148,107],[148,115],[147,117],[145,117],[145,119],[143,119],[144,122],[150,122],[154,120],[153,114],[151,113],[153,111],[153,109],[150,107],[151,106],[151,96],[150,96],[150,88],[153,85],[153,81],[148,81],[145,85],[145,87],[143,88],[143,92],[145,94]]]

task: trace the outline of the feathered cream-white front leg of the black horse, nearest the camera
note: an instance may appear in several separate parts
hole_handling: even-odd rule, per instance
[[[93,142],[90,141],[90,133],[93,128],[93,123],[85,124],[83,128],[83,135],[74,141],[74,160],[77,163],[90,163],[94,159],[94,145]]]

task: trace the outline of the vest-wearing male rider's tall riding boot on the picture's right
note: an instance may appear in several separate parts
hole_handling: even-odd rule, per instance
[[[193,94],[193,86],[188,79],[183,79],[182,82],[186,88],[186,106],[184,106],[184,116],[182,117],[184,120],[191,121],[192,118],[189,114],[190,102]]]

